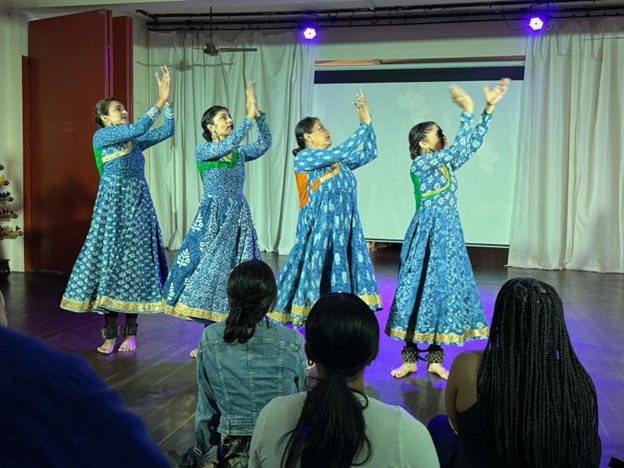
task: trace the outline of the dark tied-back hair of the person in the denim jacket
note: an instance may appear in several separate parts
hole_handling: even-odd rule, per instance
[[[236,266],[228,279],[230,313],[225,319],[223,340],[226,343],[249,341],[258,322],[275,306],[276,299],[277,284],[266,263],[249,260]]]

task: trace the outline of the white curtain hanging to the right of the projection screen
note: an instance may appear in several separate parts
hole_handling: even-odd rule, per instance
[[[527,47],[509,265],[624,272],[624,19]]]

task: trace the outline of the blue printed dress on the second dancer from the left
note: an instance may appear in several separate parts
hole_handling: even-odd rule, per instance
[[[260,259],[256,229],[243,194],[245,163],[267,152],[271,132],[265,114],[255,121],[255,143],[239,147],[252,125],[245,119],[225,140],[200,143],[195,148],[204,194],[165,283],[167,314],[184,319],[225,320],[230,310],[230,272],[241,262]]]

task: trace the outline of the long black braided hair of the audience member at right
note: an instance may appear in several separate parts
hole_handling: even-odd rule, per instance
[[[501,288],[477,376],[480,425],[496,466],[597,467],[598,404],[554,288]]]

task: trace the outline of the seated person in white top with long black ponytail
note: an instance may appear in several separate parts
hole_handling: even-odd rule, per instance
[[[425,426],[399,406],[364,394],[364,368],[379,351],[379,324],[359,297],[331,293],[306,322],[317,382],[260,413],[250,468],[438,467]]]

